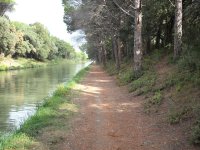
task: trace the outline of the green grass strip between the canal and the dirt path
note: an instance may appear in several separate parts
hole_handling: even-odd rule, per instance
[[[71,101],[77,95],[73,87],[88,69],[80,71],[67,85],[60,85],[53,96],[47,98],[38,107],[36,114],[26,120],[19,130],[2,137],[0,150],[53,149],[58,140],[63,140],[63,134],[69,129],[68,120],[78,111],[78,107]]]

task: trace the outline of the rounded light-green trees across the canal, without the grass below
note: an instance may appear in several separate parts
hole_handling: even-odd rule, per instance
[[[4,56],[40,61],[55,58],[74,59],[78,56],[69,43],[51,36],[40,23],[26,25],[1,17],[0,39],[0,54]]]

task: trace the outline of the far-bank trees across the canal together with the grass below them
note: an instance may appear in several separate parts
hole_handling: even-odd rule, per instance
[[[27,25],[0,17],[0,70],[32,68],[58,59],[84,61],[67,42],[50,35],[40,23]]]

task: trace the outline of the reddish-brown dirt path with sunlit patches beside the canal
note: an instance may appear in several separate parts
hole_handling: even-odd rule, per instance
[[[190,150],[179,128],[164,118],[143,112],[143,97],[134,97],[118,87],[113,77],[92,66],[74,103],[80,114],[59,150]],[[162,113],[162,111],[161,111]]]

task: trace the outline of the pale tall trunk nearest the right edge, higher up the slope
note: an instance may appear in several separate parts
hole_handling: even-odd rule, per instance
[[[182,0],[176,0],[176,10],[175,10],[175,25],[174,25],[174,60],[179,57],[182,51]]]

